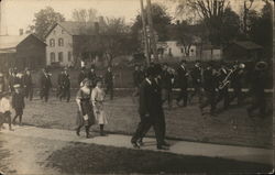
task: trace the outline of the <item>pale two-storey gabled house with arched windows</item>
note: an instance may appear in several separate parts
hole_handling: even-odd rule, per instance
[[[98,25],[87,33],[80,22],[59,22],[52,26],[46,35],[46,64],[73,66],[77,59],[94,57],[97,53]]]

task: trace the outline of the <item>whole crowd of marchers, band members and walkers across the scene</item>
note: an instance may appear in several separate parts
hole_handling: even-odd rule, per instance
[[[250,117],[256,109],[260,109],[260,116],[266,116],[264,96],[266,67],[265,62],[257,62],[253,72],[250,73],[250,88],[254,97],[254,101],[248,108]],[[197,96],[201,114],[205,114],[206,107],[210,106],[210,114],[213,117],[217,116],[217,106],[221,101],[223,101],[223,110],[227,110],[234,99],[237,99],[238,105],[242,105],[245,97],[242,91],[245,74],[245,64],[239,62],[233,64],[209,62],[205,65],[201,62],[196,62],[190,67],[186,61],[182,61],[176,69],[166,63],[151,63],[147,67],[135,65],[133,72],[135,90],[132,96],[139,97],[141,122],[131,143],[134,147],[143,145],[142,139],[153,127],[157,149],[168,149],[169,144],[165,141],[163,106],[167,102],[168,110],[172,110],[173,99],[176,100],[178,107],[187,107]],[[82,67],[77,81],[79,90],[76,95],[78,105],[76,134],[80,135],[80,129],[85,127],[86,136],[89,138],[90,127],[98,123],[100,135],[105,135],[103,128],[108,120],[103,101],[107,94],[110,94],[110,100],[113,99],[114,76],[112,68],[108,67],[103,76],[98,76],[95,66],[89,67],[89,69]],[[53,87],[48,68],[43,69],[38,83],[40,98],[47,102]],[[175,92],[173,91],[175,87],[179,88],[176,98],[174,98]],[[193,87],[191,90],[190,87]],[[56,97],[61,101],[65,99],[68,102],[70,88],[70,76],[65,67],[57,76]],[[232,94],[229,92],[229,88],[233,89]],[[24,98],[33,99],[33,79],[30,69],[26,68],[24,73],[18,73],[16,68],[12,68],[7,78],[0,74],[0,128],[4,121],[8,121],[11,129],[11,123],[15,124],[18,118],[19,124],[22,124]],[[15,111],[13,120],[11,120],[12,108]]]

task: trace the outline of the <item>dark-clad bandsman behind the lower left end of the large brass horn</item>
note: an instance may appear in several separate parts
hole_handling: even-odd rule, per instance
[[[229,74],[229,70],[228,68],[226,67],[226,63],[221,63],[220,65],[220,69],[219,69],[219,76],[218,76],[218,79],[219,79],[219,85],[222,84],[222,81],[227,78]],[[223,109],[228,109],[229,107],[229,85],[226,85],[224,87],[222,88],[219,88],[219,92],[218,92],[218,98],[217,98],[217,105],[223,100]]]

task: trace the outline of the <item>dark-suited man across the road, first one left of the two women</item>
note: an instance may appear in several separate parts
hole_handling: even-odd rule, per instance
[[[63,78],[62,78],[61,100],[63,98],[66,98],[67,102],[69,102],[69,99],[70,99],[70,78],[69,78],[67,67],[64,68]]]

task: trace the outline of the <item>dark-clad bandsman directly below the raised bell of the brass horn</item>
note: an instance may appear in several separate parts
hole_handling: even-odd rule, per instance
[[[234,65],[234,72],[231,76],[231,87],[233,88],[233,96],[230,98],[230,102],[237,98],[238,105],[242,102],[242,84],[244,76],[244,64]]]

